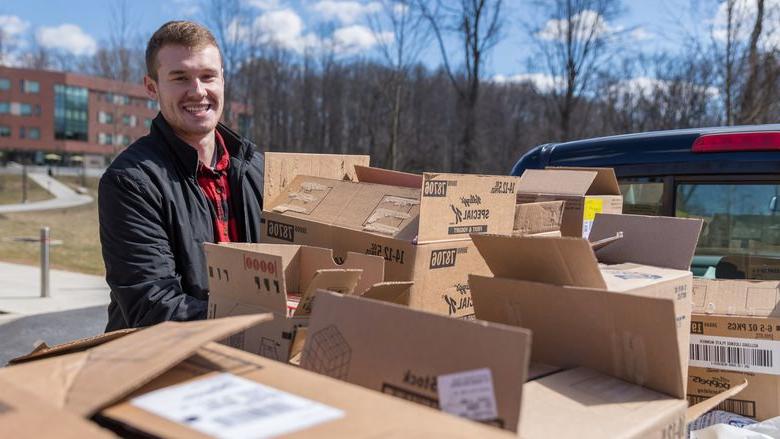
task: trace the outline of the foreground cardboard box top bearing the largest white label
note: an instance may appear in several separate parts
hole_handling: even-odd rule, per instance
[[[262,397],[242,401],[241,395],[233,395],[238,403],[231,406],[223,400],[213,405],[225,392],[199,392],[209,381],[226,379],[237,393]],[[162,400],[155,390],[169,395],[161,406],[149,402]],[[175,395],[189,399],[186,423],[172,415],[181,413],[177,404],[181,398]],[[199,419],[193,422],[196,415]],[[160,437],[236,437],[246,431],[275,437],[511,437],[493,427],[216,343],[103,410],[100,417],[119,432],[140,430]]]

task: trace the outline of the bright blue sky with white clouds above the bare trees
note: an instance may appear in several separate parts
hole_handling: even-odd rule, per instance
[[[275,33],[287,47],[300,49],[307,41],[331,38],[349,44],[351,53],[376,54],[366,16],[376,10],[373,0],[241,0],[263,31]],[[4,0],[0,3],[0,28],[22,48],[31,41],[77,54],[89,54],[111,32],[111,4],[116,0]],[[200,20],[199,1],[127,1],[133,29],[143,38],[171,19]],[[521,22],[529,16],[529,0],[505,0],[505,37],[487,62],[488,76],[529,73],[530,38]],[[676,50],[681,33],[705,32],[715,19],[718,0],[626,1],[625,13],[605,25],[629,29],[628,48],[635,51]],[[373,8],[373,9],[372,9]],[[695,8],[697,17],[689,11]],[[321,29],[329,24],[329,33]],[[362,29],[361,29],[362,28]],[[433,45],[422,59],[433,66],[440,57]]]

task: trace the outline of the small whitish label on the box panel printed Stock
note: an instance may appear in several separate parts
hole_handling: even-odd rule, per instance
[[[490,369],[439,375],[436,387],[442,411],[477,421],[498,418]]]

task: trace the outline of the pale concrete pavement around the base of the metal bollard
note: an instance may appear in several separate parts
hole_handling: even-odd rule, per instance
[[[11,315],[106,306],[109,302],[109,288],[102,276],[51,270],[51,297],[43,298],[40,297],[41,272],[36,266],[0,262],[0,279],[0,312]]]

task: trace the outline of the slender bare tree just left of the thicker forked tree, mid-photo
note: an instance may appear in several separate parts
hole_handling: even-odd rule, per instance
[[[381,87],[391,103],[387,166],[397,169],[399,163],[398,137],[401,131],[404,85],[409,70],[417,62],[420,52],[429,39],[422,26],[422,16],[414,8],[413,0],[380,0],[381,12],[368,16],[385,62],[391,67],[389,81]],[[388,38],[391,37],[391,38]],[[381,80],[381,79],[380,79]]]

